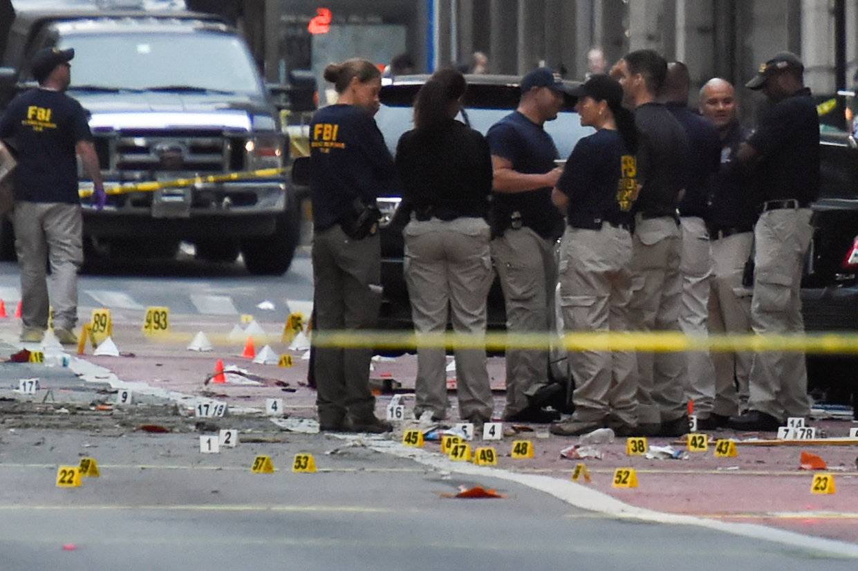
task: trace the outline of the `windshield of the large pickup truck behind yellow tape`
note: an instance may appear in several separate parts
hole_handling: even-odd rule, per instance
[[[59,47],[75,48],[70,89],[106,86],[263,97],[250,53],[240,39],[223,33],[74,34]]]

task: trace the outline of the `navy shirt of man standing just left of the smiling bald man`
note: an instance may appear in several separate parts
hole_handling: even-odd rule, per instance
[[[667,107],[685,129],[688,139],[686,193],[680,201],[680,216],[705,218],[712,177],[721,165],[718,129],[685,104],[668,103]]]

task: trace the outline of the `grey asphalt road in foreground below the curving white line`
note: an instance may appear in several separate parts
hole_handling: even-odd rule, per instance
[[[38,444],[37,444],[38,443]],[[83,448],[86,444],[87,448]],[[855,562],[692,526],[607,519],[509,482],[438,472],[330,436],[201,454],[194,434],[3,434],[3,569],[837,569]],[[293,454],[326,472],[290,472]],[[100,478],[55,486],[80,455]],[[270,454],[274,474],[252,474]],[[327,472],[329,470],[329,472]],[[443,497],[480,484],[504,499]],[[74,550],[63,550],[72,544]]]

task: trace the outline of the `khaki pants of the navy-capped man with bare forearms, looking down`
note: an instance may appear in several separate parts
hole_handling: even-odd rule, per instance
[[[492,240],[492,260],[506,304],[510,334],[555,331],[557,289],[555,241],[527,226],[507,229]],[[504,417],[523,411],[528,396],[548,382],[548,350],[511,349],[506,352]]]

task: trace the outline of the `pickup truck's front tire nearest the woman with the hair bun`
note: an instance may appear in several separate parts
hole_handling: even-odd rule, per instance
[[[245,238],[241,253],[247,271],[255,275],[282,275],[292,264],[301,234],[300,210],[290,201],[285,213],[277,217],[274,234],[266,237]]]

